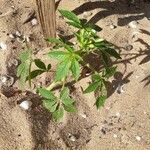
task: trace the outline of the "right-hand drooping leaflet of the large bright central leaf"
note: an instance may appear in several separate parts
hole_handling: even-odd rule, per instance
[[[73,59],[73,61],[72,61],[71,71],[72,71],[72,74],[73,74],[75,80],[77,81],[80,76],[80,65],[79,65],[79,62],[76,61],[75,59]]]

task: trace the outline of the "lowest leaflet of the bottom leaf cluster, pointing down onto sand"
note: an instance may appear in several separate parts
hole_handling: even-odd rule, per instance
[[[56,110],[55,112],[53,112],[52,117],[53,119],[58,122],[60,121],[60,119],[62,119],[64,116],[64,109],[63,108],[59,108],[58,110]]]

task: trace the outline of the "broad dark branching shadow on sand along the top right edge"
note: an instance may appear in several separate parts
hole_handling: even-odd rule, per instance
[[[149,1],[135,0],[132,4],[129,1],[115,0],[110,1],[96,1],[96,2],[85,2],[81,6],[75,8],[73,12],[77,15],[82,14],[86,11],[92,11],[95,9],[102,8],[97,12],[90,20],[90,23],[97,23],[100,19],[104,19],[111,15],[126,15],[130,14],[129,17],[123,17],[118,19],[118,25],[124,26],[133,20],[141,20],[144,17],[150,19]]]

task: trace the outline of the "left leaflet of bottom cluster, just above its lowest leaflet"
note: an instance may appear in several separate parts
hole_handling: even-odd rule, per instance
[[[55,100],[45,99],[43,100],[43,106],[50,112],[54,112],[58,106]]]

